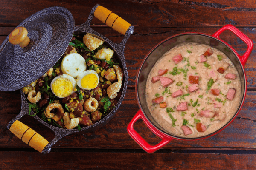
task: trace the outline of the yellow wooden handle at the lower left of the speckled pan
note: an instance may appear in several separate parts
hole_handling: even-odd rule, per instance
[[[35,130],[16,120],[10,127],[10,131],[20,138],[23,142],[42,153],[44,147],[49,143]]]

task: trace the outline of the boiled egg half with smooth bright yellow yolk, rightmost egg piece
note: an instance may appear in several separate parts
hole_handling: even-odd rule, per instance
[[[76,83],[82,89],[91,90],[99,84],[99,76],[94,70],[86,70],[78,75]]]

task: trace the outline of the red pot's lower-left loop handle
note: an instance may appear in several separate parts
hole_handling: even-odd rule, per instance
[[[145,123],[145,125],[147,125],[147,127],[157,136],[159,136],[162,141],[159,144],[156,144],[154,146],[148,144],[148,142],[146,142],[140,135],[139,133],[137,133],[133,126],[134,123],[137,122],[138,119],[142,119],[143,122]],[[150,122],[148,122],[148,120],[145,118],[144,114],[142,113],[141,110],[139,110],[136,115],[133,117],[133,119],[131,120],[131,122],[129,123],[128,127],[127,127],[127,131],[129,133],[129,135],[131,136],[132,139],[134,139],[139,145],[140,147],[142,147],[146,152],[148,153],[153,153],[156,150],[160,149],[161,147],[165,146],[166,144],[168,144],[173,138],[170,136],[167,136],[166,134],[160,132],[159,130],[157,130],[153,125],[151,125]]]

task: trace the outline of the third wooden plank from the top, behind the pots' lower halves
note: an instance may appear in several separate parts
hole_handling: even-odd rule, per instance
[[[7,95],[9,94],[9,95]],[[3,97],[8,96],[8,98]],[[256,91],[249,91],[244,103],[244,107],[235,119],[226,129],[207,139],[197,141],[172,140],[164,149],[218,149],[231,148],[239,150],[256,150],[256,126],[255,122],[255,103]],[[6,125],[20,110],[18,91],[2,92],[0,91],[0,147],[28,147],[24,142],[14,136]],[[5,102],[8,100],[9,102]],[[128,90],[125,99],[113,119],[104,127],[85,133],[81,131],[66,136],[58,141],[53,148],[128,148],[139,149],[139,145],[127,133],[127,125],[132,117],[139,110],[134,90]],[[241,118],[241,119],[240,119]],[[24,116],[20,119],[25,125],[38,132],[48,141],[54,138],[54,133],[47,127],[36,121],[31,116]],[[157,144],[160,138],[156,137],[139,120],[134,126],[150,144]]]

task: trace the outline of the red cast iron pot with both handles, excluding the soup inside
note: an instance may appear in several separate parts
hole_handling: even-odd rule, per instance
[[[247,51],[244,53],[244,55],[240,56],[234,48],[232,48],[227,42],[224,42],[220,39],[220,34],[225,31],[230,30],[232,31],[237,37],[239,37],[241,40],[243,40],[247,44]],[[167,132],[165,129],[163,129],[160,125],[157,124],[157,122],[154,120],[154,118],[151,116],[147,104],[146,104],[146,95],[145,95],[145,87],[146,87],[146,81],[148,74],[153,68],[154,64],[157,62],[157,60],[163,56],[167,51],[169,51],[171,48],[175,47],[176,45],[180,43],[189,43],[189,42],[197,42],[201,44],[210,45],[227,55],[231,62],[235,65],[238,73],[239,78],[241,79],[241,99],[239,107],[234,114],[233,118],[227,122],[226,125],[221,127],[219,130],[210,133],[206,136],[201,136],[197,138],[184,138],[180,136],[175,136],[169,132]],[[239,31],[236,27],[232,25],[226,25],[219,29],[215,34],[208,35],[208,34],[202,34],[202,33],[183,33],[178,34],[172,37],[167,38],[166,40],[163,40],[159,44],[157,44],[145,57],[144,61],[140,65],[139,72],[137,74],[137,81],[136,81],[136,94],[137,94],[137,101],[140,106],[140,110],[136,113],[136,115],[133,117],[131,122],[129,123],[127,127],[127,131],[129,135],[148,153],[153,153],[154,151],[160,149],[161,147],[168,144],[172,139],[179,139],[179,140],[198,140],[198,139],[205,139],[210,136],[215,135],[216,133],[219,133],[221,130],[223,130],[225,127],[227,127],[238,115],[239,111],[242,108],[242,105],[244,103],[244,99],[246,96],[246,88],[247,88],[247,82],[246,82],[246,76],[244,72],[244,65],[253,49],[253,41],[250,40],[245,34],[243,34],[241,31]],[[152,146],[148,144],[140,135],[134,130],[134,123],[138,120],[142,119],[145,125],[157,136],[159,136],[162,140],[160,143]]]

